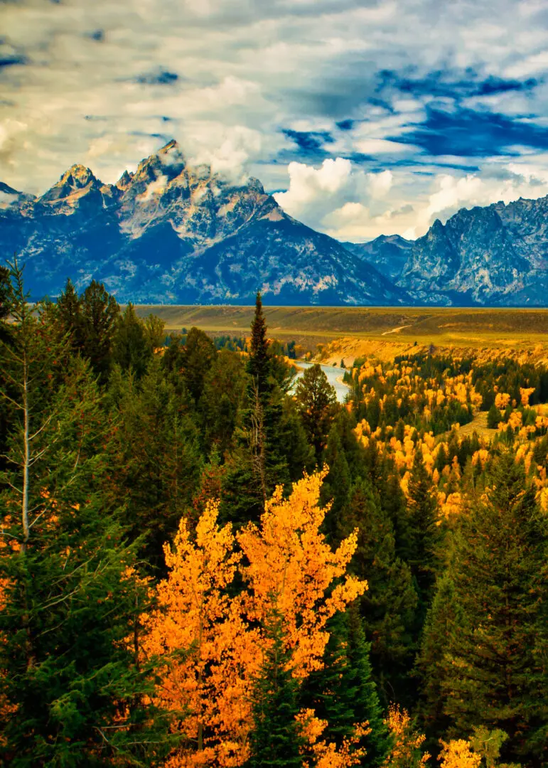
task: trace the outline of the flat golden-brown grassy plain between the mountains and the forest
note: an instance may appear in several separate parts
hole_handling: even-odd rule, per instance
[[[196,326],[209,333],[249,334],[253,306],[138,306],[154,313],[168,330]],[[548,350],[548,310],[447,307],[266,306],[269,333],[295,339],[315,351],[328,345],[324,359],[352,362],[373,353],[393,356],[411,346],[500,347]],[[335,341],[336,340],[336,341]],[[330,354],[332,353],[332,354]]]

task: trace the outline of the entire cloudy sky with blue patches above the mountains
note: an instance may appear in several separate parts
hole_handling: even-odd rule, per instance
[[[170,138],[342,240],[548,194],[538,0],[4,0],[0,180],[112,182]]]

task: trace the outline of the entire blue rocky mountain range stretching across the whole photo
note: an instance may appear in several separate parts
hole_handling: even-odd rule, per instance
[[[340,243],[259,180],[190,167],[176,141],[103,184],[74,165],[41,197],[0,182],[0,248],[32,296],[101,280],[120,302],[544,306],[548,197],[460,210],[424,237]]]

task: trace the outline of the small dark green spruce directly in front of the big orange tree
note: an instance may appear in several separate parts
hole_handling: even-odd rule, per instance
[[[266,651],[253,691],[252,756],[247,768],[302,768],[304,740],[295,717],[299,713],[298,684],[291,671],[291,653],[283,643],[282,616],[269,617]]]

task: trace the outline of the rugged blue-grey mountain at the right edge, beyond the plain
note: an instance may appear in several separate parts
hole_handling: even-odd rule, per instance
[[[548,197],[463,208],[445,224],[434,221],[396,283],[418,303],[546,306]]]

